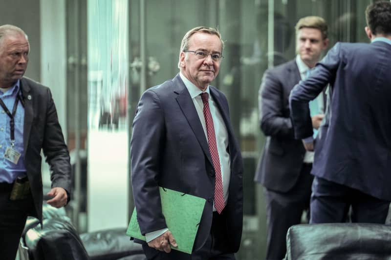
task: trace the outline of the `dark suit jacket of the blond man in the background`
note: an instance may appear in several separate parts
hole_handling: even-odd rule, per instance
[[[261,130],[266,136],[255,180],[268,189],[286,192],[295,185],[305,149],[293,134],[289,94],[301,80],[296,60],[265,71],[259,91]]]

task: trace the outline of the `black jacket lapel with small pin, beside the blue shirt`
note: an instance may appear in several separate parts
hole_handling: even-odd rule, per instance
[[[24,102],[24,121],[23,121],[23,153],[26,156],[27,144],[30,137],[31,125],[33,123],[33,102],[30,95],[30,86],[22,78],[21,80],[22,99]]]

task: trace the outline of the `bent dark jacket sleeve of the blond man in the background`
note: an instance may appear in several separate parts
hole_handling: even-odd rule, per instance
[[[266,136],[293,139],[291,120],[284,116],[283,99],[282,82],[267,70],[258,95],[261,130]]]

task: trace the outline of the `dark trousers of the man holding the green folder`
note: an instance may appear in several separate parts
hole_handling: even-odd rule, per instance
[[[230,252],[229,237],[227,236],[224,210],[219,215],[213,213],[212,228],[205,244],[191,255],[171,249],[170,253],[160,252],[152,260],[235,260],[235,256]],[[148,244],[143,244],[144,250],[151,250]],[[154,250],[154,249],[152,249]]]

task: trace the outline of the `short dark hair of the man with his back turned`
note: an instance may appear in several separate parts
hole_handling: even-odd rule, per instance
[[[373,35],[391,35],[391,2],[378,1],[367,6],[365,18]]]

